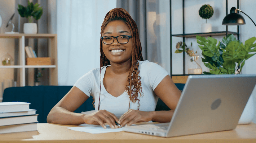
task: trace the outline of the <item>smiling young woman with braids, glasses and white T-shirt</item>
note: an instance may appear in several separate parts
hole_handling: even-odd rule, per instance
[[[143,61],[138,28],[124,9],[110,10],[101,26],[100,68],[74,84],[47,116],[48,123],[118,128],[135,122],[170,122],[181,92],[167,71]],[[90,96],[96,112],[74,113]],[[160,98],[171,109],[155,111]]]

